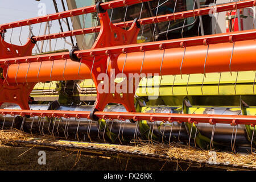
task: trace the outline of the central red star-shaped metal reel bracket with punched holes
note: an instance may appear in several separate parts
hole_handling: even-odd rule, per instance
[[[98,6],[100,6],[100,3],[97,3]],[[100,11],[100,10],[98,10]],[[93,44],[92,49],[97,48],[103,48],[105,47],[113,47],[113,46],[122,46],[127,44],[135,44],[137,42],[137,36],[139,33],[139,27],[137,27],[137,23],[134,22],[133,25],[130,27],[129,30],[123,30],[121,28],[115,27],[109,19],[109,15],[107,12],[101,13],[98,12],[98,17],[100,19],[101,23],[101,30],[100,34],[98,35],[98,38],[96,39],[96,42]],[[122,53],[125,53],[124,51]],[[108,52],[105,52],[104,55],[101,56],[95,56],[93,53],[90,54],[90,57],[86,57],[86,59],[81,59],[81,63],[84,63],[88,66],[88,68],[91,70],[92,78],[94,80],[94,84],[97,89],[97,99],[94,103],[94,109],[98,111],[104,110],[104,107],[109,103],[117,103],[122,104],[125,106],[127,111],[135,111],[134,107],[134,84],[133,86],[133,93],[129,93],[129,86],[127,85],[127,92],[122,93],[122,96],[120,93],[117,93],[117,90],[113,90],[113,93],[110,93],[110,79],[113,77],[113,73],[108,73],[108,67],[115,69],[114,77],[120,73],[119,69],[117,69],[117,57],[119,55],[115,54],[109,57]],[[111,64],[108,63],[108,60],[111,62]],[[100,80],[98,80],[98,75],[101,73],[107,73],[108,74],[108,92],[100,93],[98,90],[98,85],[100,84]],[[126,82],[126,80],[125,80]],[[114,83],[117,85],[117,83]],[[136,86],[137,88],[137,86]],[[106,89],[106,88],[104,88]]]

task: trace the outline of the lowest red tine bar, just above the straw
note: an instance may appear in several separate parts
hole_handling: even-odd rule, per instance
[[[0,109],[1,115],[30,115],[31,117],[64,117],[64,118],[90,118],[90,111],[63,111],[63,110],[9,110]],[[255,115],[218,115],[218,114],[171,114],[171,113],[123,113],[123,112],[102,112],[94,113],[100,119],[133,119],[134,121],[147,120],[150,122],[189,122],[189,123],[210,123],[214,125],[256,125]]]

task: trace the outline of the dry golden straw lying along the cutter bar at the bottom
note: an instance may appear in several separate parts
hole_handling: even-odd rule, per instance
[[[34,136],[35,137],[35,136]],[[22,133],[21,131],[9,131],[0,130],[0,144],[5,144],[7,142],[13,142],[15,140],[32,140],[35,139],[32,135],[27,133]],[[38,137],[38,136],[37,136]],[[126,145],[116,145],[116,144],[98,144],[98,143],[83,143],[83,142],[67,142],[64,140],[55,140],[52,135],[40,136],[37,138],[38,142],[44,143],[56,143],[56,144],[73,144],[77,146],[93,146],[101,148],[115,148],[118,150],[125,151],[141,151],[145,154],[162,154],[168,155],[171,158],[176,158],[178,160],[192,160],[195,162],[207,162],[209,161],[210,155],[209,151],[201,150],[200,148],[189,147],[185,144],[180,143],[148,143],[143,140],[137,141],[136,144],[131,146]],[[232,152],[218,152],[216,151],[216,162],[217,163],[229,163],[238,164],[242,166],[256,167],[256,154],[233,154]]]

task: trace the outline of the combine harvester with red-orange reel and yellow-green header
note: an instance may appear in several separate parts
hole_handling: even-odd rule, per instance
[[[67,1],[61,13],[53,3],[56,14],[0,25],[1,129],[255,152],[256,1]],[[40,35],[52,21],[60,31]],[[7,43],[35,24],[26,44]],[[53,40],[64,48],[40,50]]]

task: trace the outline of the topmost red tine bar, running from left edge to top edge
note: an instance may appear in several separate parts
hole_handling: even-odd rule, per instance
[[[135,5],[137,3],[142,3],[142,2],[147,2],[147,1],[151,1],[151,0],[115,0],[115,1],[102,3],[101,6],[104,10],[108,10],[108,9],[113,9],[113,8],[117,8],[117,7]],[[68,18],[71,16],[77,16],[77,15],[94,13],[94,12],[96,12],[96,5],[86,6],[86,7],[81,7],[79,9],[63,11],[63,12],[55,13],[55,14],[51,14],[51,15],[40,16],[40,17],[35,17],[35,18],[31,18],[31,19],[26,19],[26,20],[20,20],[20,21],[16,21],[16,22],[12,22],[12,23],[1,24],[0,30],[6,30],[9,28],[15,28],[15,27],[21,27],[21,26],[27,26],[27,25],[36,24],[36,23],[43,23],[43,22],[48,22],[51,20]]]

